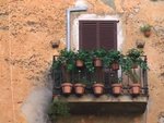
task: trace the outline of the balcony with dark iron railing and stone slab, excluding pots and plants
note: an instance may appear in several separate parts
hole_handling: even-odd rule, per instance
[[[147,63],[147,57],[140,56]],[[58,60],[54,56],[54,63]],[[73,71],[68,72],[66,66],[52,69],[54,95],[60,100],[69,102],[71,113],[73,114],[106,114],[106,113],[143,113],[147,109],[149,89],[148,74],[142,66],[131,67],[131,73],[138,76],[140,85],[139,94],[131,89],[133,84],[129,74],[124,71],[124,66],[113,70],[106,66],[95,66],[94,72],[89,72],[85,66],[75,66]],[[69,81],[73,84],[71,93],[65,94],[61,84]],[[75,94],[75,82],[83,78],[85,81],[84,94]],[[114,81],[119,79],[121,90],[114,93]],[[94,94],[93,84],[103,82],[103,94]],[[96,108],[96,110],[95,110]]]

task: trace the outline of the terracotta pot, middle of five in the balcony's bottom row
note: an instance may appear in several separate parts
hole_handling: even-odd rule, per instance
[[[93,91],[96,96],[99,96],[104,91],[104,85],[103,84],[94,84],[93,85]]]

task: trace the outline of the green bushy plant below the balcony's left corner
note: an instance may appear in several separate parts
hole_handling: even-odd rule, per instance
[[[66,101],[54,99],[48,109],[48,115],[51,121],[57,121],[59,116],[68,116],[70,109]]]

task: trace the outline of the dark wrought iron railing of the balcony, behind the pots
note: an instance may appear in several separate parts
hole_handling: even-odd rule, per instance
[[[54,56],[54,62],[56,61],[57,58],[58,58],[58,56]],[[142,59],[147,63],[147,56],[142,56]],[[62,95],[61,84],[66,79],[66,74],[68,74],[62,69],[63,67],[51,70],[52,71],[51,75],[52,75],[52,81],[54,81],[54,95]],[[139,79],[140,79],[139,81],[140,85],[141,85],[140,95],[148,96],[149,95],[148,71],[142,70],[141,67],[132,69],[132,71],[137,73],[137,75],[139,76]],[[121,67],[118,71],[113,71],[109,67],[97,67],[94,73],[86,72],[85,67],[79,67],[75,71],[70,72],[69,74],[70,74],[71,83],[77,82],[79,74],[80,74],[80,76],[81,75],[84,76],[84,78],[86,81],[85,94],[93,94],[93,89],[92,89],[93,83],[92,82],[94,82],[94,79],[98,77],[98,79],[101,79],[105,85],[104,94],[106,94],[106,95],[113,95],[112,77],[118,76],[121,78],[120,83],[122,84],[121,95],[130,95],[130,85],[132,84],[132,82],[131,82],[130,77],[121,71]],[[73,93],[72,93],[72,95],[73,95]]]

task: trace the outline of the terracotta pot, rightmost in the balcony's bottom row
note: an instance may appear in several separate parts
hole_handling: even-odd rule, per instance
[[[140,84],[132,84],[130,88],[131,88],[131,94],[133,96],[139,95],[141,91],[141,85]]]

